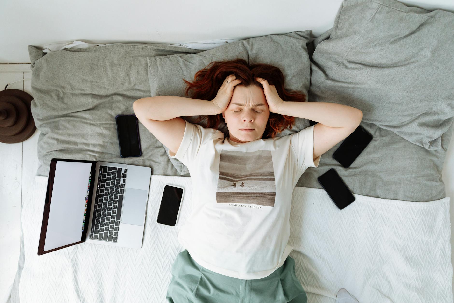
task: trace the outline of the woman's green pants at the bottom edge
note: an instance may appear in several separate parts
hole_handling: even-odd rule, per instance
[[[245,280],[200,266],[186,249],[172,265],[166,299],[169,303],[307,303],[290,256],[269,276]]]

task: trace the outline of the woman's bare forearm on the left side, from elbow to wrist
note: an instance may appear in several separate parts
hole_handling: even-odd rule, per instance
[[[181,116],[210,116],[217,114],[211,100],[177,96],[154,96],[138,99],[134,112],[151,120],[165,121]]]

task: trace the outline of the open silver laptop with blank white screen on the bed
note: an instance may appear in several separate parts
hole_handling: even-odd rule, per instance
[[[81,242],[142,247],[151,172],[137,165],[53,158],[38,254]]]

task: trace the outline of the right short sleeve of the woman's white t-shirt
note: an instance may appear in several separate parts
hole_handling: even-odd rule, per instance
[[[290,145],[296,153],[296,165],[302,174],[308,167],[318,167],[321,155],[314,161],[314,126],[291,134]]]

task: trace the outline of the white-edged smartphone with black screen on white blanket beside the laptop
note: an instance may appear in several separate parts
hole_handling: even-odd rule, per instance
[[[169,226],[175,226],[177,224],[183,194],[183,187],[171,184],[164,186],[156,222]]]

